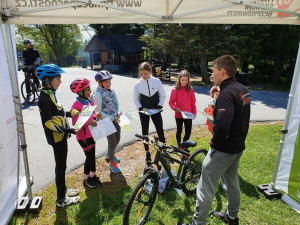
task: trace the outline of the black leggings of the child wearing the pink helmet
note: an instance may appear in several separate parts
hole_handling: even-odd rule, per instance
[[[96,156],[95,156],[95,141],[93,138],[78,141],[84,150],[86,156],[84,162],[84,174],[89,175],[90,172],[96,172]]]

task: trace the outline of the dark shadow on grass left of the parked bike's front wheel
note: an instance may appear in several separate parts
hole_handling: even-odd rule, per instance
[[[79,205],[76,224],[103,224],[123,214],[123,199],[130,186],[122,173],[111,173],[110,180],[99,188],[85,190],[86,199]]]

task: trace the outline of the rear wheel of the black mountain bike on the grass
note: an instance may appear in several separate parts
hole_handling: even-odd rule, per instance
[[[206,154],[206,149],[197,149],[187,160],[187,164],[192,166],[183,167],[181,182],[185,182],[182,186],[182,191],[186,195],[193,195],[196,193],[197,184],[199,183],[201,176],[202,162]]]

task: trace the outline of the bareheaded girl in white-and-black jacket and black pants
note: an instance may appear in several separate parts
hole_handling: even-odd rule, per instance
[[[143,62],[139,65],[139,74],[141,79],[135,84],[133,92],[133,100],[136,107],[139,109],[141,119],[142,134],[148,135],[150,117],[159,138],[159,141],[165,142],[163,129],[163,120],[161,117],[161,109],[164,105],[166,93],[161,81],[152,76],[151,65]],[[155,114],[146,115],[142,111],[144,109],[159,109]],[[151,160],[149,146],[144,144],[146,150],[146,160]]]

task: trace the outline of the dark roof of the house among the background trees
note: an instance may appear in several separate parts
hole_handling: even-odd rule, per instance
[[[134,35],[94,35],[84,51],[111,50],[116,53],[132,53],[142,52],[144,46],[146,43],[138,40],[138,36]]]

